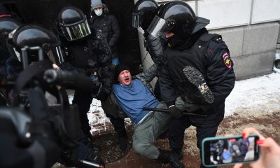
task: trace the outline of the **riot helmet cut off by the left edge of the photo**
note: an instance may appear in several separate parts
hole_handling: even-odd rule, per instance
[[[8,34],[22,25],[18,20],[6,15],[0,18],[0,47],[6,50]]]

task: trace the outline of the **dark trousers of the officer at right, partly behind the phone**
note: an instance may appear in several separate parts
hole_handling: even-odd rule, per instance
[[[169,145],[172,148],[172,151],[181,151],[184,145],[185,130],[190,127],[190,125],[193,125],[197,128],[197,148],[200,149],[200,158],[202,158],[202,140],[206,137],[215,137],[219,124],[220,122],[211,124],[193,123],[189,116],[172,118],[168,125]],[[200,167],[204,166],[200,165]]]

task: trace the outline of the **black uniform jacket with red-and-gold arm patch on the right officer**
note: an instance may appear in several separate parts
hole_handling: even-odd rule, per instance
[[[160,76],[160,89],[162,99],[168,105],[174,104],[176,97],[186,92],[186,87],[179,84],[186,81],[183,68],[187,65],[195,67],[203,74],[215,98],[213,104],[202,104],[198,111],[207,114],[207,118],[190,118],[193,118],[195,123],[209,124],[223,120],[225,98],[235,85],[235,73],[228,46],[218,34],[205,33],[186,50],[167,48]]]

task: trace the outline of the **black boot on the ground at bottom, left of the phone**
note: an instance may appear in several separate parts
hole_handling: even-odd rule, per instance
[[[158,161],[162,163],[169,163],[172,168],[184,168],[183,163],[171,151],[160,150]]]

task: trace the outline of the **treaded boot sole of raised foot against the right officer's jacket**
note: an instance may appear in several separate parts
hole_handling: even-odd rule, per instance
[[[193,66],[185,66],[183,73],[188,79],[187,82],[191,84],[190,87],[187,87],[190,88],[190,90],[193,90],[193,88],[197,90],[188,93],[188,99],[190,99],[191,102],[195,102],[195,104],[201,104],[204,102],[211,104],[214,102],[214,95],[200,71]]]

